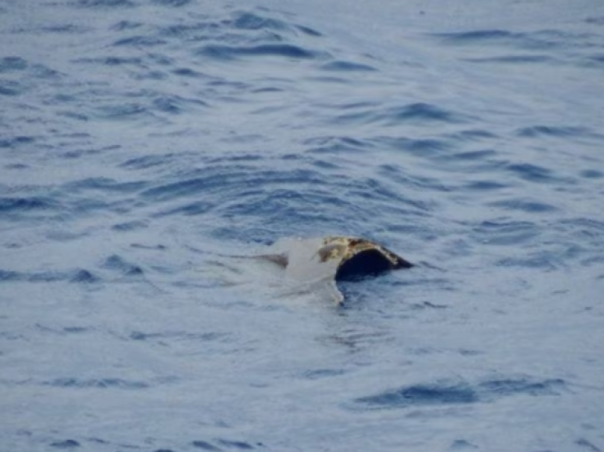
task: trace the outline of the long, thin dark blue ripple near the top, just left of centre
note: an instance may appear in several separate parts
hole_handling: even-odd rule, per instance
[[[279,57],[288,60],[309,60],[325,56],[314,50],[308,50],[293,44],[261,44],[252,46],[232,46],[209,44],[195,52],[197,55],[217,60],[234,60],[243,57]]]

